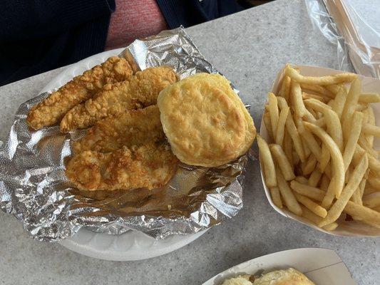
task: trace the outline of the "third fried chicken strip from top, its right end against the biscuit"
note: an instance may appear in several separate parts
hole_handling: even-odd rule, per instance
[[[73,152],[111,152],[123,146],[144,145],[164,138],[160,110],[157,105],[151,105],[98,121],[83,138],[73,143]]]

